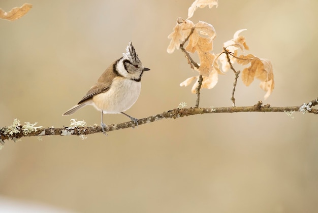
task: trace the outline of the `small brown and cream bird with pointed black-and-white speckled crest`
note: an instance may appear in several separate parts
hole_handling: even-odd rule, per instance
[[[62,116],[72,115],[86,105],[92,105],[102,113],[101,127],[105,134],[103,114],[123,114],[138,127],[138,119],[124,113],[137,101],[141,90],[141,77],[150,70],[142,65],[137,52],[129,42],[122,57],[108,66],[82,99]]]

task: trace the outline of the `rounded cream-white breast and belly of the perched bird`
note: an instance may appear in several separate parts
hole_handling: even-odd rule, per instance
[[[93,96],[94,107],[105,113],[124,112],[136,102],[140,89],[140,82],[116,77],[109,90]]]

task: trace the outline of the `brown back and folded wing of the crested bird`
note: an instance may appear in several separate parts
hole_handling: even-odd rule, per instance
[[[116,63],[117,61],[115,61],[114,63]],[[84,97],[82,97],[82,99],[78,102],[78,104],[81,104],[83,102],[85,102],[86,100],[92,98],[94,95],[106,92],[109,90],[110,85],[113,82],[113,79],[115,77],[117,77],[116,73],[114,73],[113,71],[113,64],[111,64],[106,70],[105,72],[101,75],[101,77],[98,79],[97,83],[92,86],[86,93],[86,95],[84,95]]]

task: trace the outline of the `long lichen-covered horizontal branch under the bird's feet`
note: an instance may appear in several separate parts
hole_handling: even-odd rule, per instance
[[[251,107],[220,107],[220,108],[183,108],[183,109],[173,109],[168,112],[161,114],[149,116],[138,120],[138,125],[143,125],[151,122],[155,122],[162,119],[168,118],[182,118],[184,116],[193,116],[201,114],[214,114],[214,113],[243,113],[243,112],[302,112],[302,113],[311,113],[318,115],[318,110],[313,109],[315,105],[318,104],[318,98],[312,100],[308,103],[303,103],[301,106],[294,107],[271,107],[269,104],[263,105],[262,101],[259,101],[257,104]],[[125,129],[134,127],[135,123],[125,122],[120,124],[110,124],[105,127],[105,131],[114,131],[119,129]],[[22,126],[16,127],[15,132],[8,132],[7,128],[0,129],[0,143],[4,144],[4,140],[12,139],[17,140],[18,138],[25,136],[42,136],[42,135],[88,135],[93,133],[102,132],[100,126],[90,126],[90,127],[64,127],[64,128],[40,128],[37,131],[23,133]]]

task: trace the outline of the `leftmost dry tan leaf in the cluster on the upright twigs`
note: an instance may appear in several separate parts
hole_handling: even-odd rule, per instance
[[[168,39],[171,39],[170,44],[167,48],[168,53],[173,53],[175,49],[179,49],[180,44],[184,42],[192,27],[195,26],[195,24],[190,20],[180,20],[182,19],[178,18],[177,24],[173,28],[173,32],[168,35]]]

